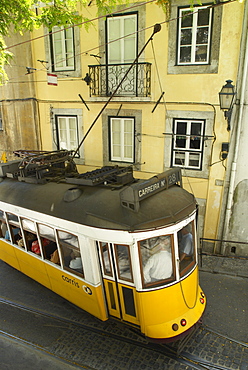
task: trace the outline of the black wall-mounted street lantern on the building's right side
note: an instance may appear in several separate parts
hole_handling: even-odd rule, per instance
[[[230,122],[235,95],[236,92],[234,91],[232,80],[227,80],[226,84],[222,86],[222,89],[219,92],[220,109],[224,111],[225,119],[227,120],[227,131],[230,131]]]

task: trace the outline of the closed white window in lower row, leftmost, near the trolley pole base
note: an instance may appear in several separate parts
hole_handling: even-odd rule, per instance
[[[57,149],[76,150],[79,144],[77,116],[55,116]]]

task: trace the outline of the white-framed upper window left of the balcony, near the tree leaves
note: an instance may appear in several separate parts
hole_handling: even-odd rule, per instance
[[[75,48],[73,27],[55,26],[51,32],[52,70],[75,70]]]

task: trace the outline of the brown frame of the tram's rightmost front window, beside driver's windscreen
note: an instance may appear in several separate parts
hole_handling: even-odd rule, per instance
[[[192,254],[192,261],[190,261],[188,264],[185,262],[187,261],[187,256],[184,259],[180,259],[180,242],[179,242],[179,233],[184,229],[187,228],[189,225],[191,225],[191,234],[192,234],[192,241],[193,241],[193,254]],[[196,259],[196,251],[197,251],[197,243],[196,243],[196,230],[195,230],[195,221],[189,222],[186,226],[181,228],[179,231],[176,233],[176,239],[177,239],[177,244],[178,244],[178,255],[179,255],[179,275],[180,278],[184,277],[187,275],[190,271],[192,271],[197,263]],[[181,268],[182,266],[182,268]]]

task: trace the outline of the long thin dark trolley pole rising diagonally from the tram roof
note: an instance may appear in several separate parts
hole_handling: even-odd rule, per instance
[[[141,54],[143,53],[143,51],[145,50],[145,48],[147,47],[147,45],[149,44],[149,42],[153,39],[153,36],[155,35],[155,33],[159,32],[161,30],[161,24],[159,23],[156,23],[154,25],[154,28],[153,28],[153,33],[152,35],[150,36],[150,38],[147,40],[147,42],[145,43],[145,45],[143,46],[143,48],[140,50],[139,54],[137,55],[137,57],[135,58],[135,60],[133,61],[133,63],[131,64],[131,66],[127,69],[126,73],[124,74],[123,78],[121,79],[121,81],[119,82],[119,84],[117,85],[117,87],[115,88],[114,92],[111,94],[111,96],[109,97],[109,99],[106,101],[106,103],[104,104],[104,106],[102,107],[102,109],[100,110],[100,112],[98,113],[98,115],[96,116],[96,118],[94,119],[94,121],[92,122],[91,126],[89,127],[88,131],[86,132],[86,134],[84,135],[83,139],[81,140],[80,144],[78,145],[75,153],[73,154],[72,156],[72,159],[75,157],[75,155],[77,154],[77,152],[79,151],[80,147],[82,146],[84,140],[86,139],[86,137],[89,135],[90,131],[92,130],[93,126],[95,125],[96,121],[98,120],[98,118],[101,116],[101,114],[103,113],[103,111],[105,110],[105,108],[107,107],[107,105],[109,104],[109,102],[112,100],[112,98],[115,96],[116,92],[118,91],[119,87],[121,86],[121,84],[123,83],[123,81],[125,80],[125,78],[127,77],[128,73],[131,71],[131,69],[133,68],[134,64],[138,62],[138,59],[139,57],[141,56]]]

